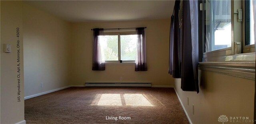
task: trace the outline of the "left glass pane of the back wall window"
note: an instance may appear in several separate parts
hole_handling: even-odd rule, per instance
[[[118,61],[118,35],[100,36],[100,47],[105,61]]]

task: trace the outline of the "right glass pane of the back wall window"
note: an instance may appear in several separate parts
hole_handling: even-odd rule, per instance
[[[121,60],[136,59],[137,35],[120,35]]]

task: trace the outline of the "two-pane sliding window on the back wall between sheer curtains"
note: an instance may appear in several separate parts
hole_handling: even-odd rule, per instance
[[[104,33],[100,45],[106,63],[134,63],[136,59],[136,33]]]

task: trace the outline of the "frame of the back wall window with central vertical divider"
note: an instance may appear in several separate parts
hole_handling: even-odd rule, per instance
[[[121,44],[120,35],[135,35],[136,31],[104,31],[104,35],[118,35],[118,61],[105,61],[107,64],[120,63],[121,60]],[[136,60],[122,60],[122,63],[135,63]]]

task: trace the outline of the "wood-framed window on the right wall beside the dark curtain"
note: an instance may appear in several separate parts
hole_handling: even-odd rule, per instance
[[[252,0],[199,1],[202,62],[255,61]]]

